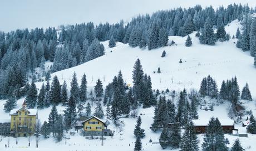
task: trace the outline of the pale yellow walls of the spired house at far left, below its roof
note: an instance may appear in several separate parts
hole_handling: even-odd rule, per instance
[[[23,137],[35,132],[36,115],[30,116],[27,110],[19,110],[17,115],[11,115],[11,132],[13,136]]]

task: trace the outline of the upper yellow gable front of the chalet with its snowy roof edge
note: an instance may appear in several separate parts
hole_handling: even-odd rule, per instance
[[[103,129],[106,129],[106,124],[96,116],[92,116],[82,122],[83,130],[86,132],[102,132]]]

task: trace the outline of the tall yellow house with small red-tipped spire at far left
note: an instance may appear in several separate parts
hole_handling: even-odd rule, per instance
[[[11,110],[10,116],[12,136],[27,137],[35,132],[37,110],[27,109],[25,101],[19,110]]]

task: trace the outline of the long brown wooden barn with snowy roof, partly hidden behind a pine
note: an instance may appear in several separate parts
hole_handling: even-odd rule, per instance
[[[205,119],[193,119],[195,125],[196,133],[205,133],[205,129],[208,126],[209,121]],[[234,130],[234,120],[233,119],[219,119],[221,127],[224,133],[232,133]]]

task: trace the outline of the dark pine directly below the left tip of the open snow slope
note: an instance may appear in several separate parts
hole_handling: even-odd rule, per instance
[[[58,105],[58,103],[61,102],[61,86],[57,76],[54,76],[52,80],[50,101],[55,105]]]

